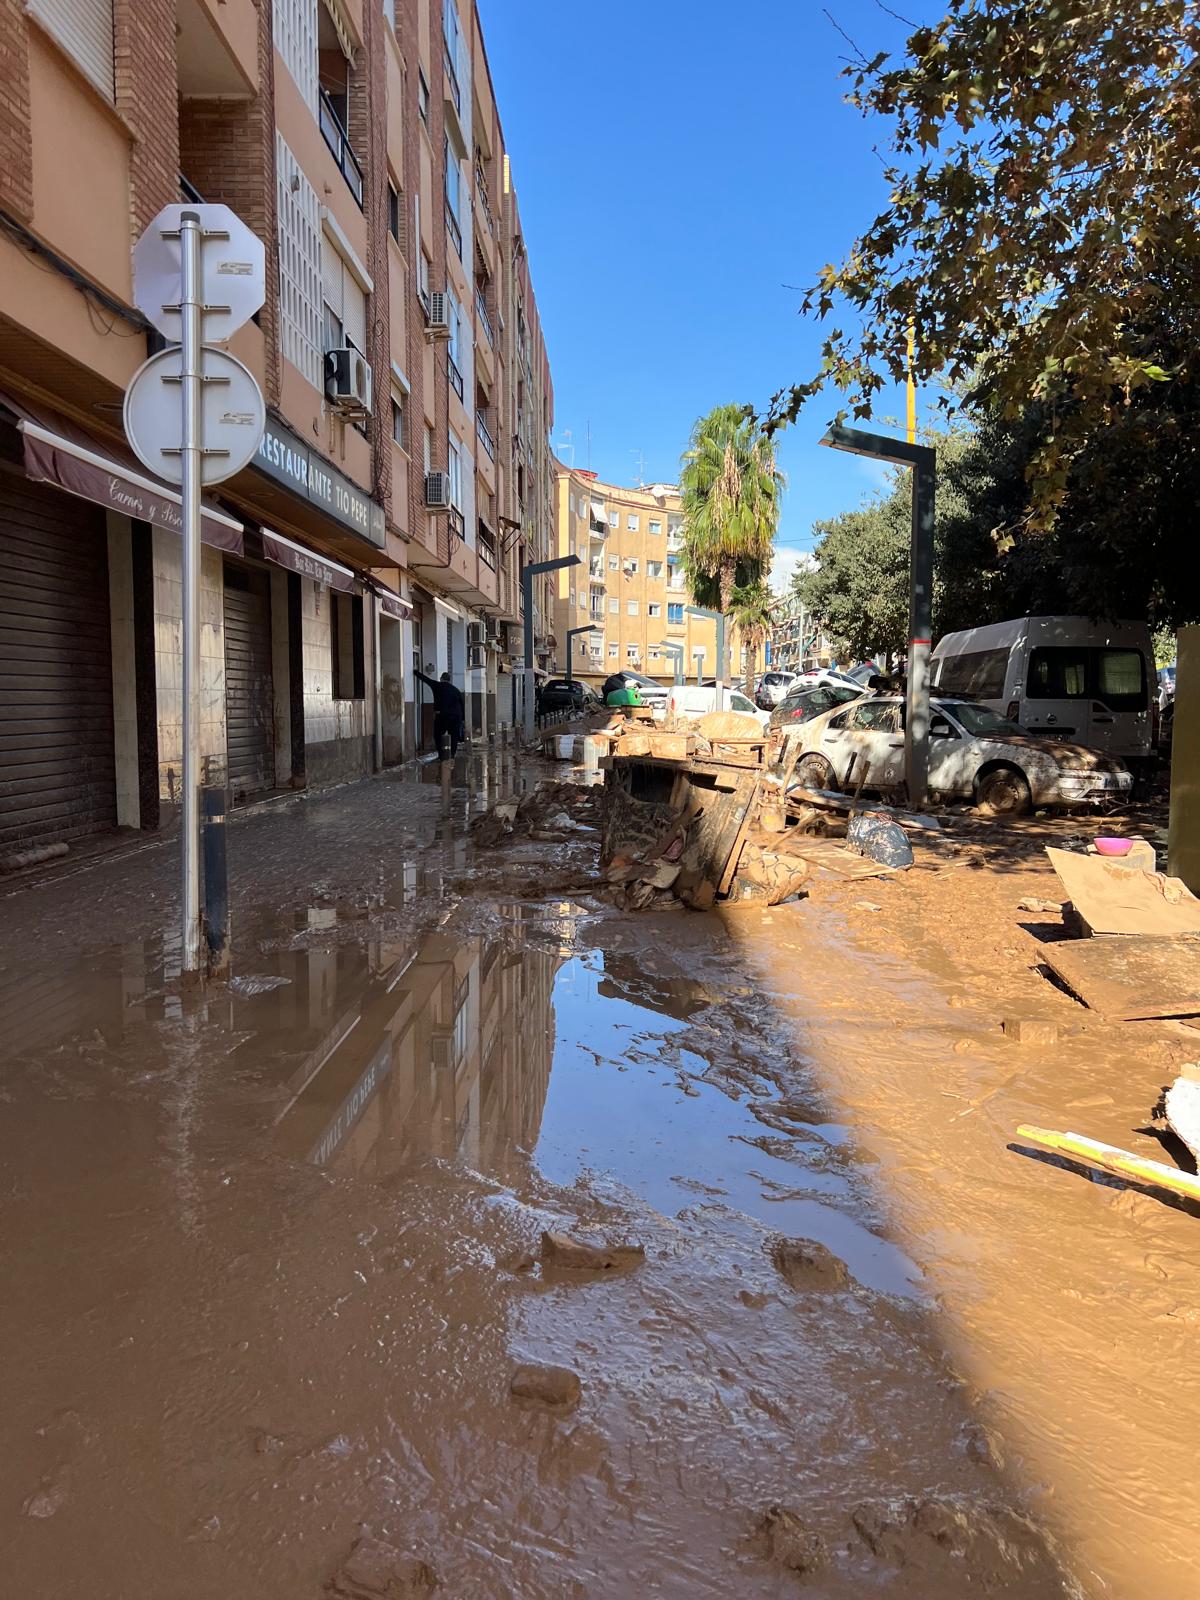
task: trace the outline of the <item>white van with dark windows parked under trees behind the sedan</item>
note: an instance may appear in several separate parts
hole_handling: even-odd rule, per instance
[[[1146,622],[1021,616],[938,640],[931,686],[982,701],[1040,738],[1149,757],[1154,646]]]

